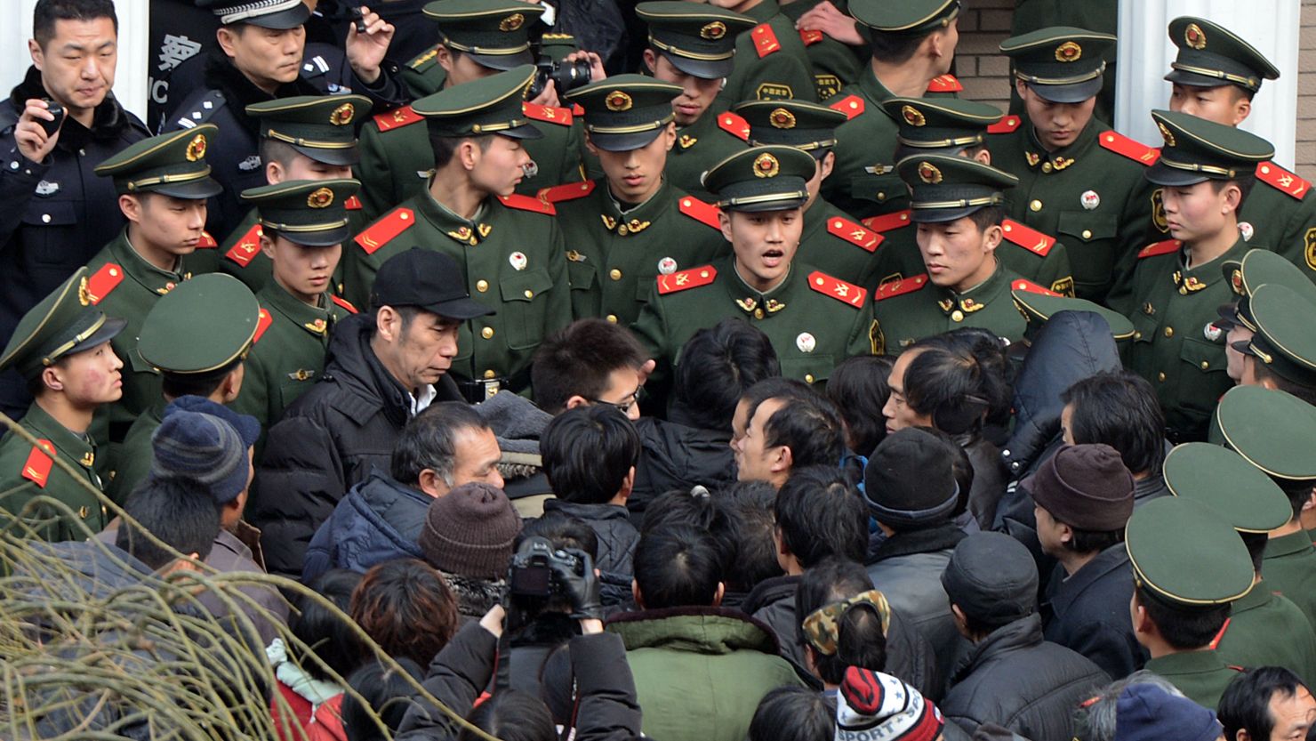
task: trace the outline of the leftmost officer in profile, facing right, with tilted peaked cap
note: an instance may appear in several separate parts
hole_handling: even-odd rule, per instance
[[[109,319],[92,305],[87,268],[79,267],[22,320],[0,355],[0,369],[17,369],[36,400],[20,429],[37,440],[7,430],[0,438],[0,519],[17,537],[83,540],[105,526],[108,517],[96,494],[96,442],[88,434],[92,415],[121,395],[118,370],[124,367],[109,341],[122,332],[124,320]],[[55,459],[67,463],[72,474]],[[50,498],[72,512],[38,504],[17,517],[34,499]],[[28,528],[33,528],[29,530]]]

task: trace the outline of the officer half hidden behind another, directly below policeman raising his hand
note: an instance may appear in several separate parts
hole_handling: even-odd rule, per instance
[[[359,161],[357,129],[370,115],[370,99],[361,95],[308,95],[247,105],[247,116],[261,121],[261,162],[265,179],[332,180],[351,178]],[[366,226],[361,199],[345,204],[347,230]],[[270,259],[261,250],[261,213],[250,208],[217,250],[218,267],[259,291],[270,279]]]

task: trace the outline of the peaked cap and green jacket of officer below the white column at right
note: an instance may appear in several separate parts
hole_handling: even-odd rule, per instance
[[[1148,171],[1154,183],[1228,180],[1274,151],[1248,132],[1184,113],[1153,111],[1152,117],[1166,140]],[[1211,409],[1233,386],[1225,372],[1224,332],[1216,325],[1217,307],[1233,299],[1220,266],[1241,261],[1246,251],[1238,238],[1224,254],[1190,266],[1191,247],[1177,240],[1158,242],[1138,253],[1128,297],[1111,303],[1133,320],[1137,334],[1126,367],[1155,387],[1171,441],[1204,440]]]

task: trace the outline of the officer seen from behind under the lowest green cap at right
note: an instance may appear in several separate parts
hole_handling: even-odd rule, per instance
[[[1229,604],[1253,588],[1248,546],[1207,505],[1162,496],[1133,511],[1124,548],[1133,566],[1133,636],[1152,654],[1145,669],[1215,708],[1240,671],[1209,649],[1229,620]],[[1174,644],[1166,633],[1177,636]]]

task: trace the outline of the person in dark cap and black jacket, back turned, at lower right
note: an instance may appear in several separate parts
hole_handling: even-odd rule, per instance
[[[941,711],[973,733],[995,723],[1026,738],[1073,738],[1074,709],[1107,682],[1095,663],[1042,640],[1037,565],[1003,533],[955,546],[941,576],[973,652],[950,677]]]

